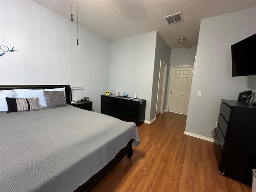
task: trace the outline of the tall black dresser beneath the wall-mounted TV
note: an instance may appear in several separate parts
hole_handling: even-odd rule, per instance
[[[256,168],[256,106],[222,100],[214,151],[221,174],[252,185]]]

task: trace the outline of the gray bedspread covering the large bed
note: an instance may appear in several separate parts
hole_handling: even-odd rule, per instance
[[[112,160],[135,123],[74,106],[0,116],[1,192],[69,192]]]

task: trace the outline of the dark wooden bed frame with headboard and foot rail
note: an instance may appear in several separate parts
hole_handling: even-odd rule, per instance
[[[54,88],[62,88],[65,87],[66,92],[66,102],[67,104],[71,104],[71,87],[70,85],[1,85],[0,90],[13,90],[13,89],[54,89]],[[84,184],[79,186],[74,192],[89,192],[96,186],[112,168],[120,161],[124,156],[128,158],[132,158],[133,150],[132,150],[133,139],[128,142],[126,147],[122,148],[118,154],[116,154],[115,158],[112,159],[106,166],[104,166],[99,172],[94,174],[89,180],[87,180]]]

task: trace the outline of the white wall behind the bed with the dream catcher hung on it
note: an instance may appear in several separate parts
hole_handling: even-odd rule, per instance
[[[74,22],[32,1],[0,5],[1,45],[18,50],[0,57],[0,84],[83,86],[73,99],[89,96],[100,112],[100,95],[110,88],[110,41],[79,26],[77,46]]]

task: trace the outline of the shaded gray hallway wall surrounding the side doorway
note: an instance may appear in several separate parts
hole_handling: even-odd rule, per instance
[[[166,106],[166,96],[168,92],[168,78],[169,78],[169,66],[170,66],[170,54],[171,49],[168,44],[164,41],[162,36],[156,33],[156,52],[154,61],[154,74],[153,74],[153,85],[152,85],[152,100],[151,100],[151,110],[150,110],[150,120],[156,117],[156,104],[157,104],[157,93],[158,93],[158,81],[159,81],[159,70],[160,70],[160,60],[167,64],[167,74],[166,74],[166,84],[165,84],[165,94],[163,106]]]

